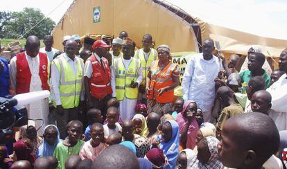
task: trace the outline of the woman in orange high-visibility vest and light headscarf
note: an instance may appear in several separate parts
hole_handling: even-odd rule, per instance
[[[173,90],[180,84],[180,68],[171,62],[171,48],[163,44],[157,47],[159,60],[150,64],[146,77],[148,112],[159,116],[171,112]]]

